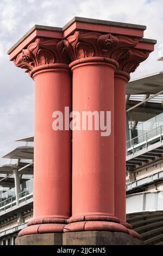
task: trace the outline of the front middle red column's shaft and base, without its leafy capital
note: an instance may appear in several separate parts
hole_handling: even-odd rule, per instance
[[[74,130],[72,137],[72,217],[64,231],[116,230],[128,233],[114,213],[114,71],[103,57],[72,62],[73,111],[111,112],[111,133]],[[82,120],[83,121],[83,120]],[[110,122],[110,120],[109,120]],[[81,124],[82,127],[82,124]]]

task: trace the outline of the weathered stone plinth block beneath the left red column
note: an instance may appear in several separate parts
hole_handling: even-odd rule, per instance
[[[62,234],[23,235],[16,238],[15,245],[62,245]]]

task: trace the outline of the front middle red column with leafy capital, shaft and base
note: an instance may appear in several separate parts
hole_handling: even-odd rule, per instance
[[[73,111],[111,112],[110,132],[73,130],[72,217],[64,231],[108,230],[129,233],[115,215],[115,58],[137,38],[97,32],[75,32],[64,40],[73,62]],[[120,51],[123,48],[123,52]],[[125,95],[124,96],[125,99]],[[101,118],[101,116],[99,115]],[[106,118],[106,116],[105,116]],[[83,122],[83,120],[82,120]],[[88,122],[87,122],[88,124]],[[106,133],[106,132],[105,132]],[[125,145],[125,138],[124,138]],[[123,156],[125,161],[126,156]],[[123,176],[124,182],[125,177]],[[125,207],[125,206],[124,206]]]

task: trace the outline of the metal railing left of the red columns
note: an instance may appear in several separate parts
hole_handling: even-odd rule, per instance
[[[0,212],[12,209],[13,206],[19,205],[23,202],[27,202],[27,200],[33,198],[33,187],[30,187],[27,190],[18,193],[17,196],[18,204],[16,204],[16,196],[10,197],[0,202]]]

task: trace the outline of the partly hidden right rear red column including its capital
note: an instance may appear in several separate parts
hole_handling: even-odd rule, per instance
[[[126,84],[130,80],[130,72],[134,72],[141,62],[146,60],[154,50],[153,40],[143,39],[135,48],[120,48],[122,54],[117,55],[119,68],[115,71],[114,111],[115,111],[115,216],[126,227]],[[130,234],[133,231],[130,231]]]

